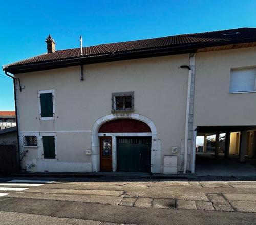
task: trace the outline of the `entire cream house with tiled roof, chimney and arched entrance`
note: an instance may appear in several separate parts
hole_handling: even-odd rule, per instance
[[[196,136],[256,129],[256,29],[55,50],[9,64],[32,171],[195,171]],[[231,139],[232,140],[232,139]],[[254,149],[254,147],[253,147]],[[216,154],[219,153],[219,149]]]

